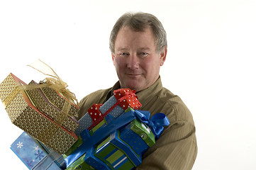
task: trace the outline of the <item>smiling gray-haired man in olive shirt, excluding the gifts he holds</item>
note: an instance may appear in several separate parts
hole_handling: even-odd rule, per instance
[[[178,96],[162,87],[159,74],[167,56],[162,23],[149,13],[124,14],[113,26],[110,50],[119,81],[84,97],[79,118],[92,104],[106,102],[116,89],[135,90],[141,110],[150,111],[151,116],[165,113],[170,121],[136,169],[191,169],[197,154],[192,115]]]

